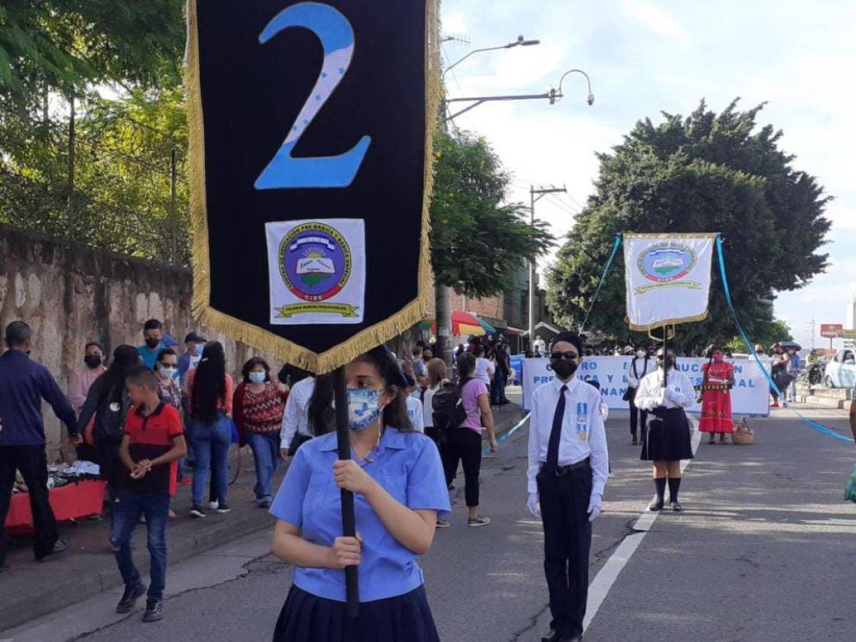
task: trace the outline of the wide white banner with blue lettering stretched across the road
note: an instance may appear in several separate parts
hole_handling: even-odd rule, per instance
[[[677,368],[693,385],[701,385],[703,358],[678,357]],[[755,360],[729,360],[734,365],[734,389],[731,390],[731,411],[734,414],[764,415],[770,413],[770,387]],[[627,410],[622,397],[627,391],[627,368],[630,357],[586,357],[580,364],[578,376],[600,383],[600,393],[609,409]],[[532,406],[532,390],[555,378],[548,359],[526,359],[523,362],[523,408]],[[701,404],[688,408],[700,413]]]

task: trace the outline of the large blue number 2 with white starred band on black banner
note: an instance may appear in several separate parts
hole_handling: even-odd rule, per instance
[[[363,136],[349,152],[338,156],[294,158],[291,154],[300,136],[306,132],[312,119],[318,115],[318,111],[348,71],[348,65],[354,56],[354,27],[351,27],[351,23],[342,13],[330,5],[297,3],[283,9],[268,23],[259,35],[259,43],[264,45],[288,27],[305,27],[318,36],[324,47],[324,64],[297,120],[288,131],[279,151],[259,174],[255,188],[348,187],[366,157],[366,151],[372,143],[371,137]]]

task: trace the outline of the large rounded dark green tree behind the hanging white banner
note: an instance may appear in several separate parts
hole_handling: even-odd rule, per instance
[[[548,304],[562,324],[584,318],[616,233],[721,232],[741,323],[750,337],[773,330],[774,293],[805,286],[827,265],[817,250],[829,230],[829,197],[792,167],[794,157],[778,146],[781,131],[756,131],[762,108],[740,111],[735,100],[716,114],[702,101],[687,118],[663,113],[658,125],[638,122],[621,145],[599,155],[596,192],[548,275]],[[623,272],[619,253],[587,326],[622,342],[641,337],[624,322]],[[710,315],[681,326],[683,346],[734,336],[716,264],[714,272]]]

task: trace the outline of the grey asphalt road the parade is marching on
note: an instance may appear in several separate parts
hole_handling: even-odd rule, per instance
[[[812,416],[847,431],[841,411]],[[653,493],[650,473],[630,446],[626,414],[609,420],[612,476],[591,548],[591,591],[603,599],[587,642],[856,639],[856,506],[842,501],[856,448],[789,413],[752,423],[751,447],[701,443],[681,487],[683,514],[639,523]],[[456,490],[452,526],[437,532],[425,557],[444,642],[528,642],[546,632],[542,534],[525,506],[526,437],[520,430],[484,462],[481,503],[493,523],[467,528]],[[270,639],[290,570],[268,550],[270,532],[259,532],[170,568],[157,624],[140,622],[140,612],[113,614],[114,592],[0,640]]]

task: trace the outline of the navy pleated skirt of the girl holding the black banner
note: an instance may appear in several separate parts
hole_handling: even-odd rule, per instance
[[[348,618],[344,602],[317,597],[292,585],[273,642],[439,642],[425,586],[404,595],[360,603]]]

